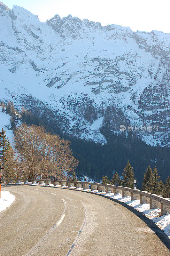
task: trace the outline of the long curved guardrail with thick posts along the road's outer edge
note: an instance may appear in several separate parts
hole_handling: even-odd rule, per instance
[[[46,183],[54,184],[54,186],[61,184],[61,186],[68,183],[68,187],[74,186],[76,188],[81,188],[83,184],[83,189],[89,189],[89,185],[91,185],[91,190],[98,190],[98,192],[105,191],[108,193],[109,191],[113,192],[114,194],[120,193],[123,196],[130,196],[132,200],[140,200],[140,204],[148,203],[150,204],[150,209],[160,208],[161,213],[160,216],[165,215],[166,212],[170,213],[170,199],[163,198],[160,195],[154,195],[150,192],[141,191],[138,189],[126,188],[121,186],[115,186],[111,184],[103,184],[103,183],[92,183],[92,182],[85,182],[85,181],[73,181],[73,180],[48,180],[48,179],[2,179],[2,182],[9,181],[9,183],[13,183],[16,181],[29,181],[34,184],[35,181],[39,182],[39,184]],[[18,182],[17,182],[18,181]]]

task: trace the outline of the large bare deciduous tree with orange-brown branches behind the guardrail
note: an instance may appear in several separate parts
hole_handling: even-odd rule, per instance
[[[70,142],[45,132],[42,126],[22,124],[15,130],[14,142],[25,178],[66,178],[78,165]]]

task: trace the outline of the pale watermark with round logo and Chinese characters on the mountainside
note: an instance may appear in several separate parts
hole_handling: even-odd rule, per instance
[[[126,126],[124,126],[123,124],[120,125],[120,132],[123,132],[127,129],[128,132],[139,132],[139,131],[143,131],[143,132],[158,132],[158,127],[159,125],[128,125],[128,127],[126,128]]]

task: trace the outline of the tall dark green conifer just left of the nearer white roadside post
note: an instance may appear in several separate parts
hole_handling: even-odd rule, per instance
[[[126,165],[126,167],[124,168],[123,172],[122,172],[122,183],[124,187],[128,187],[128,188],[133,188],[134,187],[134,171],[133,168],[131,167],[129,161]]]

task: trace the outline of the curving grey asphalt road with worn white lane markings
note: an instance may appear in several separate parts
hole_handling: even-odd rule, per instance
[[[142,213],[78,190],[3,185],[16,196],[0,213],[1,256],[166,256],[169,239]]]

